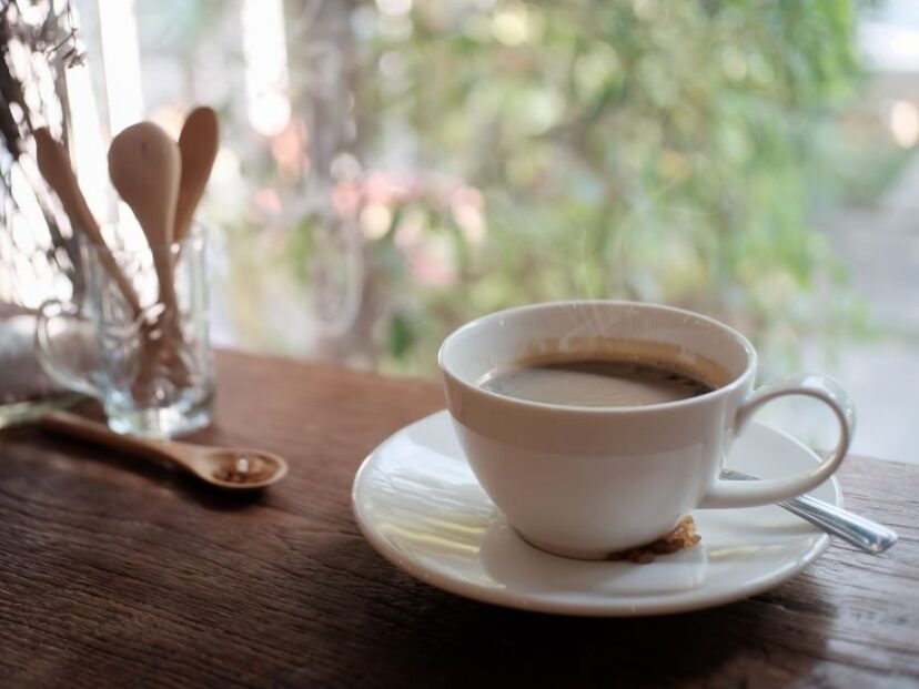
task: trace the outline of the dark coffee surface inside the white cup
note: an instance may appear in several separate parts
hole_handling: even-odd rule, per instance
[[[493,371],[483,377],[479,386],[528,402],[636,407],[698,397],[727,383],[727,374],[713,371],[709,361],[696,369],[691,363],[659,356],[659,348],[655,354],[544,355]]]

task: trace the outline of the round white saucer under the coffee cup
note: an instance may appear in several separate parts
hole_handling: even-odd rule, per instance
[[[727,465],[768,478],[817,462],[797,440],[751,424]],[[842,500],[835,478],[811,495]],[[422,581],[476,600],[567,615],[662,615],[730,602],[795,576],[829,543],[815,526],[767,506],[697,510],[701,544],[649,565],[543,553],[507,526],[482,490],[447,412],[377,447],[354,478],[352,500],[371,545]]]

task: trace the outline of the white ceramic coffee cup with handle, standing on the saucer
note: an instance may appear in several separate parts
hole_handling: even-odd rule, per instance
[[[680,361],[715,362],[729,382],[697,397],[634,407],[529,402],[481,386],[489,372],[534,352],[570,355],[623,341],[675,346]],[[569,557],[602,559],[647,544],[697,508],[807,493],[839,467],[855,428],[849,397],[832,378],[801,374],[754,391],[757,355],[746,337],[667,306],[579,301],[511,308],[450,335],[438,363],[456,434],[485,492],[526,540]],[[760,406],[785,395],[816,397],[834,411],[836,448],[800,475],[719,479],[734,437]]]

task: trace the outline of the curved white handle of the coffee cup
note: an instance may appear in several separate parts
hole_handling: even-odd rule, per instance
[[[754,507],[786,500],[812,490],[829,478],[849,450],[855,430],[855,407],[848,393],[829,376],[799,374],[771,385],[765,385],[747,397],[734,419],[734,433],[739,435],[750,417],[768,402],[786,395],[804,395],[827,404],[839,419],[839,440],[827,458],[804,474],[767,478],[756,482],[717,479],[701,500],[700,507]]]

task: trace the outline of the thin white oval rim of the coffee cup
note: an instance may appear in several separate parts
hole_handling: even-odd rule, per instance
[[[622,307],[632,307],[632,308],[643,308],[647,311],[664,311],[671,313],[674,315],[679,316],[689,316],[693,318],[697,318],[698,321],[705,322],[710,324],[714,327],[721,330],[723,332],[727,333],[731,337],[734,337],[737,343],[744,348],[747,354],[747,364],[744,367],[744,371],[740,372],[739,375],[735,376],[735,378],[728,383],[727,385],[723,385],[709,393],[705,393],[703,395],[698,395],[696,397],[689,397],[687,399],[676,399],[674,402],[663,402],[659,404],[647,404],[643,406],[635,406],[635,407],[597,407],[597,406],[578,406],[578,405],[568,405],[568,404],[552,404],[549,402],[533,402],[531,399],[519,399],[517,397],[508,397],[506,395],[501,395],[498,393],[494,393],[485,387],[475,385],[474,383],[466,381],[465,378],[461,377],[450,368],[445,363],[445,356],[447,348],[453,344],[453,342],[461,335],[475,330],[477,327],[483,326],[486,322],[507,317],[508,315],[515,313],[526,313],[531,311],[541,311],[544,308],[558,308],[565,306],[592,306],[592,305],[604,305],[604,306],[622,306]],[[717,363],[717,362],[716,362]],[[646,302],[628,302],[628,301],[616,301],[616,300],[568,300],[562,302],[542,302],[539,304],[527,304],[525,306],[513,306],[511,308],[505,308],[503,311],[496,311],[494,313],[489,313],[484,316],[479,316],[474,321],[469,321],[465,325],[461,325],[458,328],[453,331],[450,335],[446,336],[444,342],[441,344],[441,348],[437,351],[437,367],[441,369],[442,374],[448,377],[455,385],[464,388],[468,393],[475,395],[486,395],[487,397],[492,397],[493,399],[501,401],[506,404],[513,404],[525,408],[538,408],[538,409],[552,409],[562,414],[610,414],[610,415],[627,415],[627,414],[644,414],[647,412],[656,411],[656,409],[671,409],[681,406],[687,406],[691,404],[698,404],[700,401],[709,401],[714,397],[718,396],[727,396],[730,395],[735,389],[740,387],[745,384],[747,378],[756,371],[757,366],[757,353],[754,348],[753,344],[749,340],[747,340],[740,332],[734,330],[729,325],[725,325],[720,321],[716,321],[709,316],[705,316],[700,313],[696,313],[694,311],[688,311],[686,308],[677,308],[676,306],[665,306],[663,304],[649,304]]]

